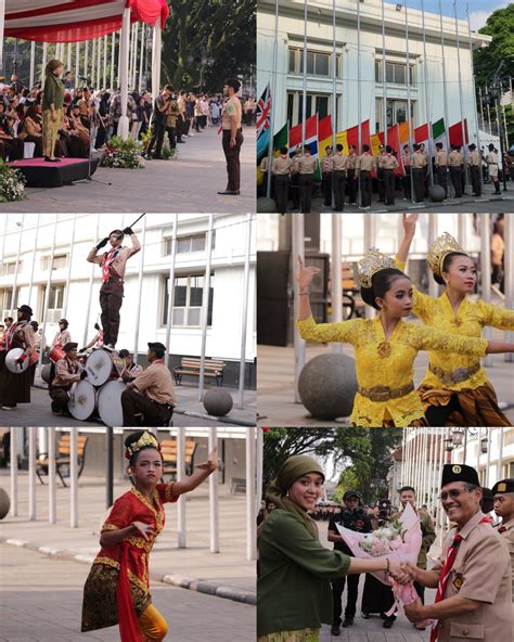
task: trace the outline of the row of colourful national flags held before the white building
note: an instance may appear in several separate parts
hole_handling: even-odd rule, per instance
[[[269,140],[271,136],[271,128],[269,115],[271,112],[271,95],[269,85],[265,89],[258,104],[257,104],[257,164],[264,156],[268,154]],[[397,174],[404,174],[401,163],[401,153],[403,145],[409,143],[409,123],[401,123],[394,125],[387,129],[387,144],[397,153],[399,167],[395,170]],[[444,149],[448,150],[449,145],[464,145],[468,143],[467,120],[459,121],[448,128],[445,127],[444,118],[436,123],[421,125],[413,127],[411,124],[411,140],[413,143],[425,143],[425,151],[428,152],[428,139],[432,138],[432,155],[435,155],[436,143],[442,143]],[[428,136],[429,127],[432,126],[432,137]],[[356,125],[349,129],[337,131],[335,134],[336,144],[340,143],[344,146],[344,152],[347,154],[349,147],[355,145],[358,153],[362,145],[368,144],[374,155],[378,154],[378,145],[384,144],[385,134],[383,131],[370,134],[370,121],[365,120],[361,124],[361,145],[359,145],[359,126]],[[295,147],[301,144],[303,140],[303,124],[288,127],[285,123],[283,127],[273,136],[273,154],[279,155],[280,147],[287,147],[290,156],[295,152]],[[311,155],[320,163],[325,156],[325,147],[332,145],[333,142],[333,127],[332,117],[325,116],[321,120],[318,114],[310,116],[305,121],[305,143],[310,146]],[[318,164],[318,174],[320,171]]]

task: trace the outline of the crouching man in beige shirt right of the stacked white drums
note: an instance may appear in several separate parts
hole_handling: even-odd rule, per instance
[[[121,393],[124,426],[167,426],[175,408],[171,373],[164,362],[166,347],[159,342],[149,342],[150,365],[136,375]],[[138,424],[142,415],[142,424]]]

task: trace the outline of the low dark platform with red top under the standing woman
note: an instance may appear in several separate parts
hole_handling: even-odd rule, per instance
[[[62,188],[87,179],[89,172],[92,176],[98,164],[98,158],[61,158],[59,163],[47,163],[43,158],[24,158],[9,163],[25,176],[28,188]]]

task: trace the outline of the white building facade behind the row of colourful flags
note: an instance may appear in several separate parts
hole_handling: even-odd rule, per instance
[[[358,44],[357,8],[360,9]],[[336,2],[336,95],[337,131],[370,120],[370,132],[384,130],[383,36],[381,0],[337,0]],[[257,22],[258,94],[277,82],[274,130],[286,120],[290,127],[301,123],[303,114],[303,0],[281,0],[278,23],[278,63],[273,79],[275,34],[274,1],[259,0]],[[407,54],[406,14],[409,34]],[[441,31],[442,22],[442,31]],[[447,90],[449,126],[467,118],[470,142],[476,141],[475,99],[470,48],[487,46],[490,37],[471,33],[466,20],[425,12],[423,16],[407,3],[384,2],[387,127],[408,120],[409,65],[411,112],[414,126],[436,123],[445,117],[444,87]],[[444,48],[441,47],[441,34]],[[457,42],[459,39],[459,51]],[[332,2],[308,2],[307,24],[307,117],[332,114],[333,94]],[[426,57],[425,57],[426,51]],[[359,60],[360,59],[360,60]],[[459,81],[460,69],[460,81]],[[426,73],[426,93],[425,93]],[[462,91],[462,118],[459,87]],[[447,121],[448,120],[448,121]],[[333,119],[334,123],[334,119]]]

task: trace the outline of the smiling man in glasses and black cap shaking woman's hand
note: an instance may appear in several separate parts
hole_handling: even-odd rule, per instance
[[[404,606],[413,621],[438,620],[432,642],[511,640],[512,572],[509,551],[480,511],[481,488],[474,468],[445,464],[442,508],[457,524],[442,545],[441,556],[431,570],[408,566],[411,577],[425,587],[437,587],[434,604],[416,602]]]

